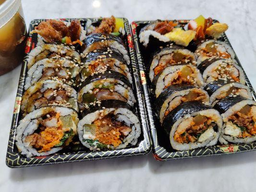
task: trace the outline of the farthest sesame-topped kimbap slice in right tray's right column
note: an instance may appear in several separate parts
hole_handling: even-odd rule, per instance
[[[209,58],[234,59],[235,53],[230,45],[219,40],[207,40],[200,44],[195,50],[198,56],[197,64]]]

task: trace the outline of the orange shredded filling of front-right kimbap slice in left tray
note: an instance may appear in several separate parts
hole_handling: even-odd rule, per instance
[[[123,121],[118,120],[114,114],[109,113],[105,117],[98,118],[92,124],[85,124],[84,132],[87,131],[92,132],[95,135],[93,139],[98,140],[101,144],[117,147],[132,129]]]

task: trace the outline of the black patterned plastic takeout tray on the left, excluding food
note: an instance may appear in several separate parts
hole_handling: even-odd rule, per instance
[[[24,57],[20,80],[18,85],[17,96],[15,100],[15,107],[13,111],[12,117],[12,126],[10,131],[10,138],[7,149],[6,156],[6,164],[11,168],[19,168],[19,167],[29,167],[29,166],[37,166],[37,165],[47,165],[47,164],[58,164],[58,163],[67,163],[67,162],[75,162],[75,161],[85,161],[85,160],[94,160],[94,159],[105,159],[105,158],[113,158],[113,157],[122,157],[122,156],[137,156],[137,155],[145,155],[150,152],[151,145],[149,134],[147,131],[147,123],[146,123],[146,111],[144,108],[144,96],[141,90],[142,84],[140,79],[140,74],[138,73],[138,66],[135,60],[135,51],[134,44],[132,41],[132,36],[130,33],[130,26],[128,20],[122,18],[124,22],[124,29],[126,34],[125,41],[126,48],[130,55],[131,64],[130,71],[133,74],[133,86],[134,86],[134,94],[136,97],[136,107],[135,110],[137,112],[140,125],[141,125],[141,136],[138,139],[138,142],[135,146],[126,147],[124,149],[116,149],[116,150],[107,150],[107,151],[90,151],[86,149],[82,144],[80,144],[79,140],[76,139],[76,142],[73,142],[71,146],[61,150],[60,152],[49,155],[49,156],[34,156],[34,157],[25,157],[18,153],[17,147],[15,145],[15,133],[16,128],[18,126],[19,120],[21,120],[21,100],[24,94],[24,83],[25,76],[27,72],[27,54],[33,48],[37,46],[37,38],[35,38],[35,34],[33,36],[28,36]],[[63,21],[71,21],[72,19],[62,19]],[[86,18],[86,19],[78,19],[81,22],[82,26],[85,26],[86,21],[97,21],[98,18]],[[37,24],[45,21],[44,19],[32,20],[29,26],[29,34],[34,29]]]

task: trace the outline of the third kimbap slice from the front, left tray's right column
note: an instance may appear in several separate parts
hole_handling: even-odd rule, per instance
[[[95,52],[88,53],[82,60],[81,78],[86,79],[88,76],[97,73],[112,70],[122,73],[132,83],[132,75],[129,71],[127,62],[115,49],[105,48],[97,49]]]

